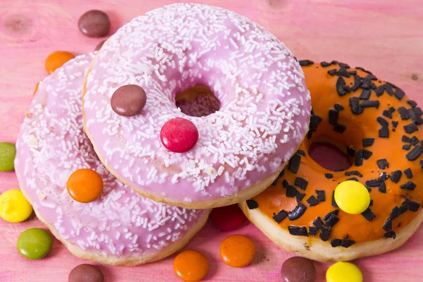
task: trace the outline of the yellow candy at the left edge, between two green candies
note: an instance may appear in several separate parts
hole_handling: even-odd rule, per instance
[[[31,204],[20,190],[7,190],[0,195],[0,217],[8,222],[25,221],[32,214]]]

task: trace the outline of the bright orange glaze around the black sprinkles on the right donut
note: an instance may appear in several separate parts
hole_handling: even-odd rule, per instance
[[[317,216],[320,216],[321,219],[328,214],[329,212],[338,209],[331,206],[332,192],[335,190],[336,185],[341,183],[348,178],[355,177],[361,183],[365,183],[367,180],[372,180],[379,178],[379,174],[386,172],[391,176],[393,171],[400,169],[404,171],[406,168],[411,168],[413,177],[408,179],[405,174],[401,176],[398,183],[394,183],[391,179],[387,179],[386,183],[386,194],[379,192],[377,187],[372,188],[370,196],[373,200],[373,205],[370,207],[372,212],[376,215],[371,222],[362,216],[362,214],[346,214],[343,211],[339,211],[339,221],[333,226],[331,231],[331,236],[328,243],[332,239],[339,238],[343,239],[345,235],[348,235],[349,240],[355,240],[356,243],[376,240],[383,238],[386,231],[382,229],[386,219],[391,214],[391,211],[394,207],[400,207],[403,201],[405,200],[403,196],[406,196],[409,200],[418,202],[422,204],[423,202],[423,178],[420,177],[422,168],[419,166],[419,161],[423,159],[423,154],[416,159],[415,161],[409,161],[406,159],[405,155],[411,151],[406,151],[402,149],[403,145],[408,143],[402,142],[401,137],[407,135],[408,137],[416,136],[419,140],[423,140],[423,128],[422,125],[417,125],[419,130],[412,134],[405,133],[403,128],[404,125],[412,123],[411,119],[407,121],[402,121],[398,111],[395,111],[392,116],[393,118],[387,118],[382,115],[385,109],[393,106],[398,109],[400,106],[404,106],[406,109],[411,109],[411,106],[407,104],[407,97],[398,100],[396,97],[389,95],[386,91],[381,97],[376,97],[374,90],[371,92],[369,98],[372,100],[379,100],[380,106],[379,109],[376,108],[366,108],[362,114],[353,114],[349,99],[351,97],[360,97],[362,89],[359,88],[355,92],[350,92],[345,94],[345,96],[340,97],[336,91],[336,81],[338,79],[337,75],[329,75],[327,71],[336,68],[340,68],[338,64],[332,64],[329,67],[321,67],[320,63],[314,63],[311,66],[303,67],[305,72],[305,81],[307,87],[311,92],[312,96],[312,108],[314,114],[323,118],[323,121],[319,123],[317,131],[312,134],[312,137],[308,139],[305,137],[305,141],[302,142],[299,149],[302,149],[306,153],[306,157],[301,157],[300,167],[298,173],[293,173],[288,170],[288,166],[285,168],[285,175],[278,179],[276,185],[271,185],[267,190],[262,192],[253,198],[255,200],[261,212],[264,212],[269,217],[273,217],[274,214],[278,214],[281,209],[286,212],[292,211],[296,206],[297,202],[295,197],[286,197],[286,189],[282,187],[283,180],[288,180],[290,185],[295,184],[296,177],[305,178],[308,181],[307,188],[305,191],[301,190],[298,187],[298,191],[305,193],[305,197],[302,199],[302,203],[305,204],[307,210],[305,213],[294,221],[290,221],[288,217],[283,219],[279,226],[281,228],[288,229],[288,226],[307,226],[307,231],[309,231],[309,226],[313,226],[312,222]],[[348,71],[353,71],[353,68],[349,68]],[[360,75],[364,78],[367,73],[357,70],[357,75]],[[353,86],[354,75],[351,75],[350,78],[344,78],[346,85],[350,87]],[[376,86],[381,85],[384,82],[381,80],[373,80]],[[393,87],[395,91],[396,88]],[[364,100],[360,100],[360,103]],[[346,130],[343,133],[337,133],[333,130],[333,125],[329,124],[329,109],[333,109],[334,104],[342,104],[345,109],[339,112],[338,123],[346,125]],[[389,123],[389,137],[381,138],[379,137],[379,129],[381,125],[376,121],[377,117],[383,117]],[[396,131],[393,132],[393,126],[391,121],[398,121],[398,127]],[[374,144],[370,147],[363,147],[362,138],[372,137],[375,138]],[[373,154],[372,156],[363,161],[362,166],[351,166],[346,171],[359,171],[362,173],[363,177],[359,176],[345,176],[345,171],[335,172],[328,171],[325,168],[322,168],[317,164],[313,159],[309,157],[308,149],[313,142],[317,140],[328,139],[333,140],[335,144],[345,145],[346,147],[352,145],[356,150],[359,149],[368,149]],[[389,164],[389,168],[379,169],[376,164],[376,160],[386,159]],[[325,173],[332,173],[333,179],[327,179]],[[400,189],[400,185],[406,183],[407,181],[414,182],[417,187],[415,190],[404,190]],[[309,207],[306,200],[310,196],[314,195],[317,197],[315,190],[325,190],[326,191],[326,201],[320,202],[316,206]],[[246,208],[247,209],[247,208]],[[418,212],[420,212],[422,206],[420,205]],[[404,214],[398,216],[398,218],[393,219],[392,226],[393,231],[398,231],[407,223],[410,223],[412,219],[417,216],[418,212],[407,211]],[[310,237],[319,238],[319,233]],[[389,239],[392,240],[392,239]],[[311,243],[311,242],[309,242]]]

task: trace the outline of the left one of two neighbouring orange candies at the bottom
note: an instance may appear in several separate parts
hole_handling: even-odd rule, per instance
[[[185,250],[173,260],[173,271],[183,281],[200,281],[209,271],[209,260],[196,250]]]

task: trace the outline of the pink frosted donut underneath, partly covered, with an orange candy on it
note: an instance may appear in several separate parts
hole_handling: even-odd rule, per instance
[[[82,130],[82,82],[91,60],[78,56],[39,83],[16,142],[20,188],[39,220],[78,257],[119,265],[167,257],[202,228],[209,211],[143,198],[102,166]],[[76,202],[66,190],[79,168],[102,177],[94,202]]]

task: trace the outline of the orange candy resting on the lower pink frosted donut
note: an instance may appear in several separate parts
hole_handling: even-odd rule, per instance
[[[66,184],[73,200],[87,203],[96,200],[103,191],[103,180],[92,169],[82,168],[69,176]]]

